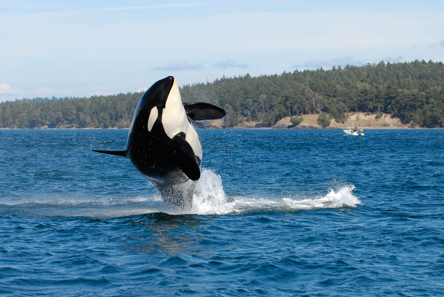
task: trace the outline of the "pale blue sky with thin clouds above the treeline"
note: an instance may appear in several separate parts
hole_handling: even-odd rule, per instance
[[[442,0],[64,2],[0,0],[0,101],[444,61]]]

